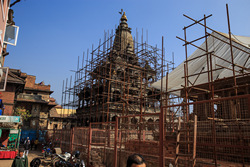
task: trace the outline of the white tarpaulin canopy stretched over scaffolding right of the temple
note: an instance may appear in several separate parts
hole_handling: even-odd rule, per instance
[[[214,36],[214,37],[213,37]],[[219,40],[219,39],[226,41],[227,43]],[[221,57],[227,61],[224,61],[216,56],[212,56],[212,68],[218,69],[221,67],[220,70],[216,70],[213,72],[213,80],[226,78],[233,76],[232,64],[231,62],[231,51],[230,51],[230,45],[229,45],[229,38],[228,34],[224,33],[218,33],[213,32],[208,38],[208,52],[212,52],[213,54]],[[250,37],[244,37],[244,36],[235,36],[232,35],[232,45],[242,49],[239,50],[235,47],[233,47],[233,57],[234,57],[234,63],[240,66],[244,66],[246,68],[250,68]],[[206,43],[202,43],[200,48],[203,48],[205,50]],[[244,52],[246,51],[246,52]],[[197,49],[191,56],[188,57],[188,59],[193,59],[195,57],[198,57],[200,55],[204,55],[206,52]],[[171,73],[168,75],[168,91],[176,90],[183,88],[182,86],[185,85],[184,81],[184,63],[182,62],[178,67],[176,67]],[[192,61],[188,62],[188,75],[192,74],[199,74],[201,72],[207,71],[207,57],[202,56],[200,58],[194,59]],[[239,74],[239,71],[242,71],[242,68],[239,66],[235,66],[236,75]],[[249,72],[249,71],[248,71]],[[196,81],[195,81],[196,80]],[[208,82],[208,76],[207,73],[189,77],[189,81],[191,83],[194,83],[195,85],[203,84]],[[161,89],[161,80],[153,83],[152,85],[154,88]],[[166,91],[166,77],[163,78],[163,91]],[[176,92],[175,94],[179,95],[180,92]]]

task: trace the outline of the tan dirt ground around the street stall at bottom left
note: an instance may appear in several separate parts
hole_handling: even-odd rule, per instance
[[[41,151],[30,150],[29,155],[28,155],[29,166],[30,166],[30,162],[34,158],[41,157],[41,156],[42,156]],[[43,161],[43,159],[41,160]],[[0,159],[0,167],[11,167],[12,162],[13,162],[13,159]],[[43,165],[40,165],[40,166],[43,166]]]

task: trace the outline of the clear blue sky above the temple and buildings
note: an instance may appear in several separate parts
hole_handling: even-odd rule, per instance
[[[13,2],[13,0],[12,0]],[[51,85],[51,94],[61,103],[63,80],[74,76],[78,57],[98,46],[104,31],[115,30],[123,9],[135,36],[148,34],[148,43],[161,47],[166,59],[175,55],[175,66],[185,59],[183,27],[212,14],[207,25],[228,33],[226,4],[231,32],[250,36],[250,0],[21,0],[12,7],[14,21],[20,27],[17,46],[8,45],[4,66],[36,76],[36,83]],[[204,28],[187,30],[189,41],[204,35]],[[188,50],[189,55],[194,48]]]

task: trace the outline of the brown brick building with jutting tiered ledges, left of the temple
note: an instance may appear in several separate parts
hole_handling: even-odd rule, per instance
[[[48,127],[49,111],[57,104],[55,99],[50,97],[53,93],[50,85],[35,81],[35,76],[27,75],[24,89],[17,95],[16,108],[29,111],[31,114],[27,121],[24,120],[24,129],[45,130]]]

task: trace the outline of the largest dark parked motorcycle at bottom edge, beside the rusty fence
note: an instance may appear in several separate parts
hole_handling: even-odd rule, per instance
[[[85,167],[85,164],[84,164],[84,161],[80,159],[80,152],[75,151],[73,156],[71,156],[70,153],[56,154],[56,156],[51,160],[51,166],[54,166],[54,167]]]

